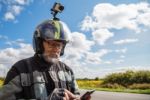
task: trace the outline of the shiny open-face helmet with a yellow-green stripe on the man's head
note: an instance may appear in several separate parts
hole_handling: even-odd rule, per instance
[[[64,44],[60,53],[60,56],[62,56],[68,43],[68,36],[63,24],[58,20],[46,20],[36,27],[33,34],[33,49],[37,54],[42,54],[44,51],[43,40],[61,41]]]

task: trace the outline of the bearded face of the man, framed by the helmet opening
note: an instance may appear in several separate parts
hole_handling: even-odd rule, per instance
[[[59,60],[61,49],[63,48],[63,43],[54,40],[44,40],[44,59],[48,62],[55,62]]]

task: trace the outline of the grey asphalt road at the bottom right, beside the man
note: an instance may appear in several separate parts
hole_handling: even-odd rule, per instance
[[[81,95],[86,90],[81,90]],[[150,100],[150,95],[146,94],[132,94],[132,93],[119,93],[119,92],[103,92],[95,91],[91,95],[91,100]]]

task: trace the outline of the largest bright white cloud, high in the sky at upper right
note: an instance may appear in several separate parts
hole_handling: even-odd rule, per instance
[[[109,3],[97,4],[92,16],[85,17],[82,22],[82,30],[89,29],[129,29],[140,31],[139,24],[149,25],[150,4],[119,4],[114,6]]]

